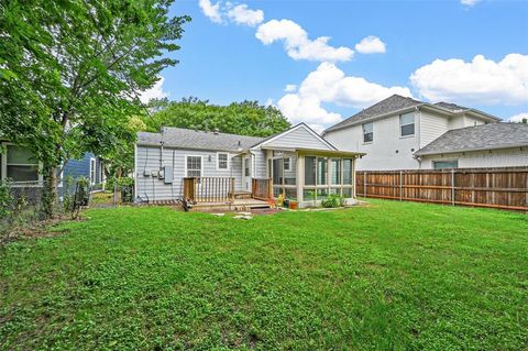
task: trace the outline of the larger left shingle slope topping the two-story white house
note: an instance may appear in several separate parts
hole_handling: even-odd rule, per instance
[[[419,106],[424,105],[425,102],[418,101],[411,98],[406,98],[399,95],[393,95],[392,97],[386,98],[385,100],[382,100],[373,106],[371,106],[367,109],[364,109],[361,112],[355,113],[354,116],[345,119],[344,121],[339,122],[338,124],[334,124],[327,129],[324,132],[332,131],[334,129],[339,129],[349,124],[353,124],[363,120],[366,120],[369,118],[373,118],[376,116],[382,116],[385,113],[389,113],[393,111],[397,110],[403,110],[406,108],[410,108],[414,106]]]

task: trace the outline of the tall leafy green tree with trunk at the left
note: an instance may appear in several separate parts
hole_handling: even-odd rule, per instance
[[[0,133],[43,164],[44,215],[57,167],[85,151],[130,143],[138,91],[177,61],[188,17],[173,0],[10,0],[0,7]]]

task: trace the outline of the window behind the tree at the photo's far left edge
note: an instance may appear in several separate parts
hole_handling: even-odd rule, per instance
[[[25,147],[7,145],[6,177],[13,182],[40,180],[38,162]]]

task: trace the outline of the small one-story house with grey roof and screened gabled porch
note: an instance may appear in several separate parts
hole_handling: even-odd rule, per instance
[[[360,156],[336,149],[304,123],[267,139],[178,128],[140,132],[136,200],[182,199],[186,179],[196,178],[204,188],[210,182],[206,178],[215,178],[215,186],[222,178],[233,184],[230,193],[249,196],[255,195],[254,179],[265,180],[271,197],[283,194],[299,207],[318,205],[330,194],[354,204],[355,160]]]

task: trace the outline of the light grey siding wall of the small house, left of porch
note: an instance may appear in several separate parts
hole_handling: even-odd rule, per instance
[[[142,200],[173,200],[183,197],[183,179],[185,175],[186,156],[202,156],[204,177],[234,177],[235,190],[242,187],[242,161],[240,156],[230,155],[229,169],[217,169],[216,151],[195,151],[165,147],[161,160],[161,150],[155,146],[138,146],[135,160],[136,196]],[[209,161],[210,157],[210,161]],[[162,166],[173,167],[173,183],[145,176],[144,173],[158,171]]]

